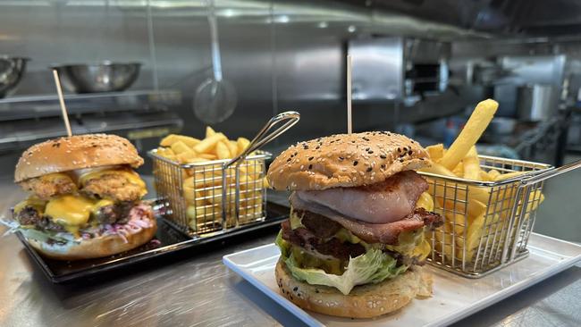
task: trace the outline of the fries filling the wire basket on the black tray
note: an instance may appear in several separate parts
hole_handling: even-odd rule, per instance
[[[248,138],[228,139],[223,133],[206,127],[205,138],[191,138],[171,134],[160,141],[157,155],[164,156],[178,164],[204,164],[212,160],[232,159],[244,152],[250,144]],[[212,223],[221,222],[223,214],[223,171],[222,163],[213,165],[193,165],[183,169],[181,197],[185,203],[189,227],[193,231],[214,228]],[[268,187],[263,165],[255,161],[240,164],[240,219],[252,220],[263,214],[263,192]],[[227,224],[235,222],[236,182],[234,168],[226,174],[226,214]],[[174,182],[169,180],[167,182]]]

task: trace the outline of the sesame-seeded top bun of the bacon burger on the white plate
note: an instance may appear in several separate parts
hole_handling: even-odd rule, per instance
[[[273,189],[349,188],[428,165],[429,155],[416,141],[371,131],[299,142],[274,159],[266,178]]]

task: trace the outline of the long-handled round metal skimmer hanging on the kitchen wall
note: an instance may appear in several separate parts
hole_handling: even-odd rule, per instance
[[[218,43],[218,24],[215,17],[214,0],[208,2],[208,23],[212,47],[213,77],[208,78],[196,89],[194,113],[202,122],[223,122],[236,108],[236,88],[222,76],[222,57]]]

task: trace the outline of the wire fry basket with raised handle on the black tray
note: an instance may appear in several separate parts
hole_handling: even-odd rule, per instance
[[[271,155],[258,148],[289,130],[299,122],[299,117],[296,112],[277,114],[258,132],[248,148],[232,160],[178,164],[157,155],[156,150],[149,151],[157,196],[164,198],[168,205],[164,217],[194,239],[264,222],[266,190],[263,179],[265,161]],[[282,126],[270,132],[279,123]]]

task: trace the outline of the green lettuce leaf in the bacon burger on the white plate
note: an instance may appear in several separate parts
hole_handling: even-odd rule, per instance
[[[282,233],[279,233],[276,238],[276,245],[281,248],[284,263],[296,279],[307,281],[309,284],[334,287],[345,295],[357,285],[378,283],[408,269],[407,265],[397,266],[397,260],[383,253],[382,250],[370,247],[365,254],[349,258],[345,272],[334,275],[322,269],[299,267],[294,256],[290,256],[290,244],[282,239]]]

